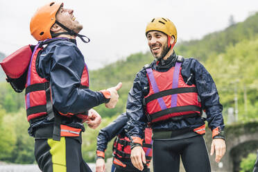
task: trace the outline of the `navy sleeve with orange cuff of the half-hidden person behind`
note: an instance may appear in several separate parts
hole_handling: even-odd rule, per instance
[[[97,137],[97,156],[103,157],[105,155],[105,150],[107,148],[107,143],[116,137],[126,126],[128,121],[128,117],[126,117],[126,113],[123,113],[117,117],[112,123],[110,123],[105,128],[102,128],[98,132]]]

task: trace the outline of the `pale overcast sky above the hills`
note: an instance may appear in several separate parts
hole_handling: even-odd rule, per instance
[[[49,0],[0,0],[0,52],[9,55],[26,44],[37,44],[29,31],[31,16]],[[78,40],[89,69],[103,67],[131,53],[148,51],[146,24],[167,17],[178,29],[178,40],[200,39],[221,31],[230,15],[243,22],[258,11],[257,0],[64,0],[91,39]]]

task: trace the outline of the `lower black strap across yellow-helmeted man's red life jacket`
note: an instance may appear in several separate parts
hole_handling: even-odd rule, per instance
[[[162,117],[166,114],[172,114],[172,113],[176,113],[176,112],[187,112],[187,111],[198,111],[198,112],[200,112],[201,108],[196,106],[196,105],[184,105],[184,106],[178,106],[178,107],[171,107],[171,108],[168,108],[166,110],[161,110],[159,112],[149,114],[149,117],[150,117],[150,121],[153,121],[154,119]],[[196,115],[198,115],[198,113],[196,113]],[[184,118],[184,116],[186,116],[186,115],[182,115],[182,116],[179,116],[179,117]],[[175,119],[175,117],[171,117],[171,118]]]

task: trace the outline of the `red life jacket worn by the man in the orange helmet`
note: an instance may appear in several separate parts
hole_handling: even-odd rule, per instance
[[[51,39],[51,40],[60,40],[59,39]],[[49,40],[48,40],[49,41]],[[46,41],[45,41],[46,42]],[[40,58],[40,54],[42,52],[43,46],[42,44],[37,44],[35,47],[33,54],[31,56],[31,62],[28,67],[28,74],[26,78],[26,94],[25,94],[25,102],[26,102],[26,112],[27,119],[29,123],[33,123],[35,121],[40,121],[41,119],[47,117],[49,120],[55,117],[55,122],[58,124],[59,133],[53,133],[54,135],[60,136],[79,136],[80,130],[78,128],[71,128],[69,126],[61,125],[60,121],[58,121],[58,117],[60,115],[64,115],[66,117],[76,116],[79,119],[85,120],[87,119],[87,112],[81,112],[78,114],[62,114],[61,112],[53,112],[53,104],[51,102],[51,88],[49,85],[49,80],[46,78],[40,77],[37,72],[37,60]],[[87,70],[87,65],[83,69],[83,74],[80,79],[80,87],[81,88],[89,88],[89,74]],[[56,125],[54,125],[56,126]],[[55,130],[56,128],[54,128]]]

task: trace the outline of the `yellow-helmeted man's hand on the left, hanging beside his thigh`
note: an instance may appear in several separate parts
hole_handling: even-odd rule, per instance
[[[135,146],[131,151],[131,162],[135,166],[135,168],[139,169],[139,171],[144,170],[144,164],[146,164],[146,157],[144,150],[141,146]],[[144,162],[144,164],[142,164]]]

